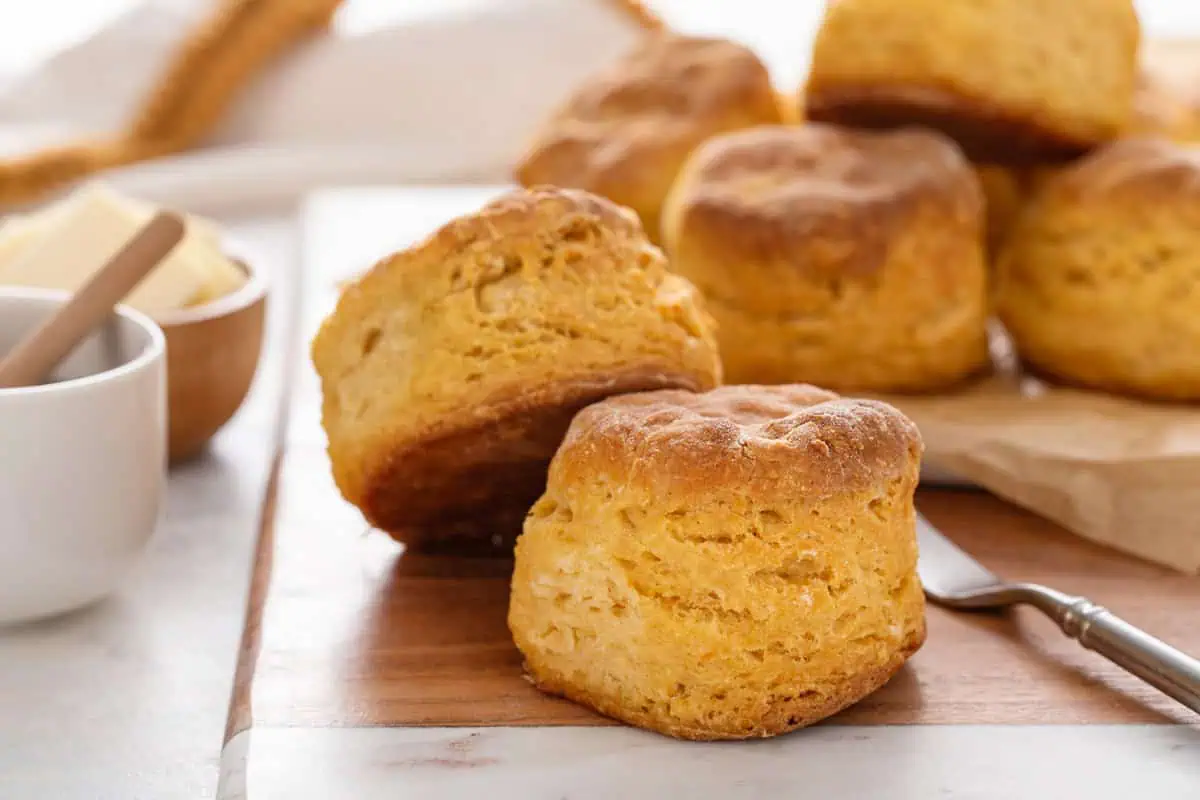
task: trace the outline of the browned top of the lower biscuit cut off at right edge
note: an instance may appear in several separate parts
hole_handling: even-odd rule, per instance
[[[1118,139],[1049,179],[1038,197],[1072,205],[1200,200],[1200,148],[1153,137]]]

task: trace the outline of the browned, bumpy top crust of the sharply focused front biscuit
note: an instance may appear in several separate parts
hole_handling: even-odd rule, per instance
[[[808,385],[658,391],[581,411],[554,463],[655,493],[829,497],[916,471],[917,427],[886,403]]]

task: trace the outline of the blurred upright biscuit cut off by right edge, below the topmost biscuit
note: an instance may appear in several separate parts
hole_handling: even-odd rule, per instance
[[[1200,399],[1200,150],[1120,140],[1045,179],[997,266],[997,309],[1026,363]]]

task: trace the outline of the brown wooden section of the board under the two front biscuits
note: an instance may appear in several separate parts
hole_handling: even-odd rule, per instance
[[[293,396],[264,510],[227,738],[257,727],[605,726],[540,694],[505,627],[505,559],[404,554],[338,495],[307,342],[336,285],[478,206],[487,190],[332,193],[310,209]],[[1001,500],[922,491],[920,509],[996,571],[1085,594],[1200,652],[1200,581],[1105,551]],[[833,724],[1187,721],[1184,710],[1036,613],[929,610],[929,640]]]

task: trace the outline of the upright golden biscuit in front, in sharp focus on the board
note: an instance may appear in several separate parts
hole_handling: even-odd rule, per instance
[[[584,409],[517,540],[534,682],[685,739],[769,736],[882,686],[924,640],[916,427],[811,386]]]

